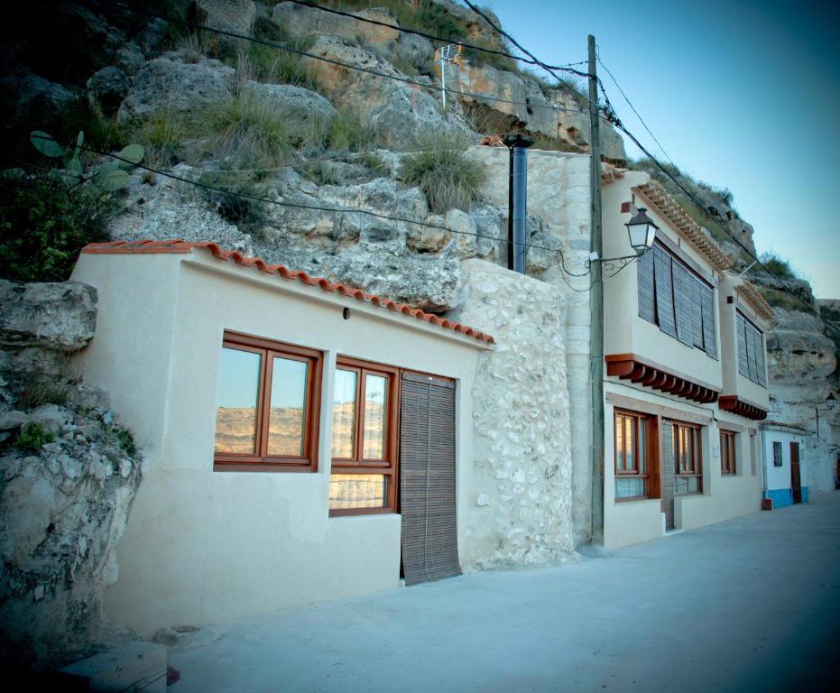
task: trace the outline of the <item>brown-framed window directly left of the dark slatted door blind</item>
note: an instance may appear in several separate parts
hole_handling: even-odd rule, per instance
[[[339,357],[333,396],[333,515],[396,510],[396,368]]]

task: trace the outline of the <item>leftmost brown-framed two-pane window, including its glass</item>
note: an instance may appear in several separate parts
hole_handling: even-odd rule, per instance
[[[321,353],[225,333],[214,468],[315,471]]]

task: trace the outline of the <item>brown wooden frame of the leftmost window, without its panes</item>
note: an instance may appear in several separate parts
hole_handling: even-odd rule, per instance
[[[324,355],[317,349],[298,347],[263,337],[225,331],[223,348],[259,354],[260,379],[257,388],[256,453],[218,453],[213,455],[217,472],[316,472],[318,471],[318,421],[320,412],[321,375]],[[307,369],[306,406],[303,421],[303,455],[268,454],[269,418],[271,416],[272,369],[274,357],[302,361]],[[214,429],[215,434],[215,429]]]

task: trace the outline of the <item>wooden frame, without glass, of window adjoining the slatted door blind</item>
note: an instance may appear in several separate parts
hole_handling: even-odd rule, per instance
[[[337,356],[336,371],[354,371],[356,376],[355,421],[353,439],[353,457],[334,457],[330,476],[339,474],[376,474],[385,476],[385,504],[371,508],[330,508],[330,517],[346,515],[371,515],[397,512],[397,482],[399,479],[400,450],[400,369],[372,361],[363,361],[349,356]],[[380,375],[386,378],[388,408],[385,412],[385,459],[374,460],[362,457],[365,449],[365,420],[360,411],[364,411],[366,375]]]

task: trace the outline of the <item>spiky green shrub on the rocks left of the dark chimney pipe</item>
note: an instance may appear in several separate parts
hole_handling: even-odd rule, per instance
[[[466,211],[480,197],[487,176],[468,152],[470,144],[466,134],[438,130],[423,135],[416,151],[402,156],[402,180],[420,186],[432,211]]]

